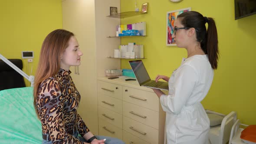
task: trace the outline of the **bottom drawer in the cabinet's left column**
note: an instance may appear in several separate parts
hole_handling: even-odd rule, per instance
[[[99,135],[104,135],[107,137],[115,137],[120,140],[123,139],[123,130],[121,128],[118,128],[112,124],[109,124],[108,122],[103,121],[102,119],[99,119],[98,125],[99,125]]]

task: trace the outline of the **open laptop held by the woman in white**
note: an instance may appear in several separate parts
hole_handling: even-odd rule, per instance
[[[141,60],[129,61],[129,64],[131,65],[131,69],[134,72],[140,86],[169,90],[168,82],[155,82],[154,80],[150,79],[148,72]]]

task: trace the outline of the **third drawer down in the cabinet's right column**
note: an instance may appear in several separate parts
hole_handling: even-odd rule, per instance
[[[144,125],[131,118],[123,117],[124,130],[152,144],[158,143],[158,130]]]

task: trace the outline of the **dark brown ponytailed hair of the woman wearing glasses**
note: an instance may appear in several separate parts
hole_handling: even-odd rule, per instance
[[[211,67],[217,69],[219,59],[218,34],[213,18],[203,17],[196,11],[181,13],[177,18],[181,18],[181,24],[184,27],[196,29],[197,41],[200,42],[203,52],[208,55]],[[206,29],[205,23],[208,23],[208,29]]]

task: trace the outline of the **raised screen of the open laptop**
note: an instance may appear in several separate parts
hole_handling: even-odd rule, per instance
[[[129,63],[139,84],[150,80],[148,72],[141,60],[129,61]]]

